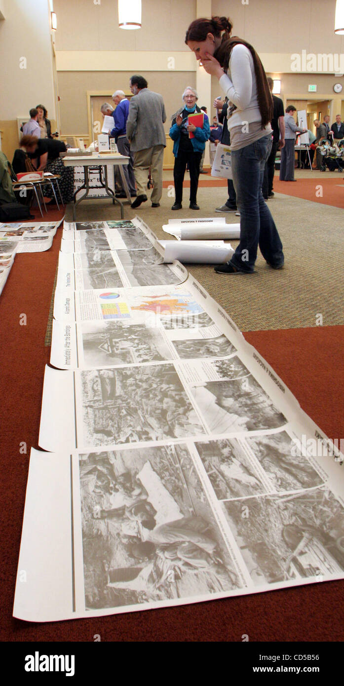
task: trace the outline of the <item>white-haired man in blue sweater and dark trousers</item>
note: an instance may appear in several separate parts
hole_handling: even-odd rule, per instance
[[[128,119],[129,113],[129,101],[124,91],[115,91],[115,93],[113,93],[113,102],[115,103],[116,108],[113,110],[113,112],[111,112],[111,115],[113,116],[115,126],[113,129],[111,129],[110,136],[111,138],[115,139],[118,152],[120,152],[121,155],[129,157],[128,165],[124,165],[123,171],[124,176],[126,177],[130,196],[136,196],[135,176],[133,169],[134,156],[133,153],[130,152],[130,144],[126,137],[126,120]],[[126,198],[124,191],[116,193],[116,196],[117,198]]]

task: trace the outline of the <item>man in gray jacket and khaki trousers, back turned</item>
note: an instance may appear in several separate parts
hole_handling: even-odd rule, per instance
[[[143,76],[134,75],[129,81],[129,115],[126,121],[126,135],[130,150],[134,153],[134,174],[137,185],[137,198],[131,204],[139,207],[146,202],[148,168],[152,174],[154,188],[150,200],[152,207],[159,207],[163,194],[163,149],[166,147],[163,123],[166,121],[163,97],[148,91],[148,83]]]

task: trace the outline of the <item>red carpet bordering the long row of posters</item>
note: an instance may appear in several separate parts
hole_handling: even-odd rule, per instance
[[[296,184],[295,184],[296,186]],[[49,220],[58,213],[49,213]],[[3,641],[341,641],[344,584],[310,584],[228,600],[139,613],[30,624],[12,618],[30,447],[37,447],[45,363],[45,329],[61,230],[47,252],[18,255],[0,298],[1,632]],[[25,313],[27,325],[19,325]],[[331,438],[343,436],[344,327],[251,331],[253,344]],[[20,443],[27,443],[27,454]]]

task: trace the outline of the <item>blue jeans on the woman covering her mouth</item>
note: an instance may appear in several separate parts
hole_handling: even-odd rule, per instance
[[[271,134],[268,134],[231,152],[233,184],[240,210],[240,244],[231,264],[241,272],[254,271],[258,245],[266,262],[273,266],[284,263],[282,242],[262,196],[264,167],[271,145]]]

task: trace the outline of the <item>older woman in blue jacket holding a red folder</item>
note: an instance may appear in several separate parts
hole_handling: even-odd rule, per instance
[[[183,200],[183,180],[186,166],[190,171],[190,209],[199,210],[197,204],[198,176],[200,173],[200,158],[202,157],[205,143],[210,136],[210,126],[207,115],[204,115],[203,128],[189,124],[187,117],[195,113],[200,113],[200,108],[196,105],[198,100],[197,92],[194,88],[187,86],[183,93],[185,105],[172,116],[172,126],[170,128],[170,138],[174,141],[174,189],[176,200],[172,210],[180,210]],[[194,134],[189,137],[190,131]]]

